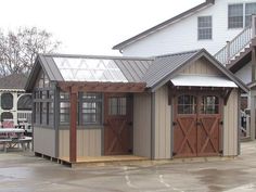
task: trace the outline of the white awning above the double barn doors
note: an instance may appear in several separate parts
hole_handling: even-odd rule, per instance
[[[232,80],[219,76],[178,75],[170,81],[176,87],[238,88]]]

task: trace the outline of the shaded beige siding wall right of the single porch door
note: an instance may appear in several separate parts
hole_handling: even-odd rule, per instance
[[[133,97],[133,154],[151,157],[151,94]]]

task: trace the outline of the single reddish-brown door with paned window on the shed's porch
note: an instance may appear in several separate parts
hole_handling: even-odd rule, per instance
[[[132,99],[128,94],[104,97],[104,154],[132,153]]]

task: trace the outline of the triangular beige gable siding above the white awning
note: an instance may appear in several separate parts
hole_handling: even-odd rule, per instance
[[[205,59],[195,61],[190,66],[185,67],[181,74],[221,75],[220,71]]]

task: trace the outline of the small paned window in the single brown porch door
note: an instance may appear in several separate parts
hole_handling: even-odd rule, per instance
[[[126,115],[126,98],[108,99],[108,115]]]

